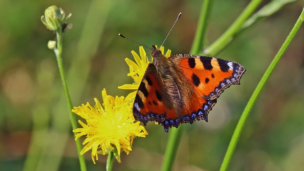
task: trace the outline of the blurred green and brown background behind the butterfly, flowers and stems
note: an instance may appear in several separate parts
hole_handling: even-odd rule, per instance
[[[212,43],[237,18],[249,0],[214,0],[207,40]],[[260,7],[267,4],[265,0]],[[101,91],[126,96],[117,86],[132,83],[124,58],[137,44],[162,43],[176,16],[182,16],[164,44],[172,54],[188,53],[202,1],[8,1],[0,0],[0,170],[80,170],[57,62],[47,48],[53,32],[40,21],[44,9],[57,5],[72,29],[64,33],[63,62],[74,106],[101,100]],[[209,122],[185,125],[174,164],[176,171],[217,170],[238,119],[258,81],[292,29],[303,1],[238,36],[217,57],[246,69],[241,85],[218,99]],[[240,136],[229,170],[303,170],[304,168],[304,28],[278,63]],[[148,52],[147,52],[148,53]],[[77,119],[80,119],[79,117]],[[160,125],[134,140],[113,170],[159,170],[168,139]],[[104,170],[106,156],[88,170]]]

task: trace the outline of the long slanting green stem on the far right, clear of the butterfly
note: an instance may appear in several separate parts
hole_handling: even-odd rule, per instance
[[[287,49],[287,47],[289,46],[290,42],[292,41],[292,39],[294,38],[295,34],[298,32],[300,26],[302,25],[304,21],[304,9],[302,10],[301,15],[299,16],[299,19],[297,20],[297,22],[295,23],[295,26],[292,28],[291,32],[289,33],[289,35],[287,36],[285,42],[283,43],[283,45],[281,46],[280,50],[278,51],[278,53],[276,54],[276,56],[274,57],[274,59],[272,60],[272,62],[270,63],[269,67],[267,68],[265,74],[263,75],[263,77],[261,78],[259,84],[257,84],[257,87],[255,88],[253,94],[251,95],[241,117],[239,122],[237,123],[237,126],[233,132],[231,141],[229,143],[226,155],[224,157],[222,166],[220,168],[220,171],[226,171],[229,163],[230,163],[230,159],[233,155],[234,149],[237,145],[237,141],[239,140],[240,137],[240,133],[245,125],[245,122],[248,118],[248,115],[250,114],[251,109],[253,108],[253,105],[255,103],[255,101],[257,100],[257,97],[259,96],[259,94],[261,93],[265,83],[267,82],[271,72],[274,70],[275,66],[277,65],[277,63],[279,62],[279,60],[281,59],[281,57],[283,56],[285,50]]]

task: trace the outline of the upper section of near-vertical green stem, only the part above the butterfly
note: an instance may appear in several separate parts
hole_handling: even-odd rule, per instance
[[[204,48],[204,40],[207,31],[209,14],[211,12],[212,0],[204,0],[201,15],[199,16],[199,23],[195,32],[194,40],[190,52],[202,53]],[[190,53],[190,54],[192,54]]]

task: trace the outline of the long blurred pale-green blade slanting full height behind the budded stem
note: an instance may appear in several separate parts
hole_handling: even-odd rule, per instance
[[[110,1],[95,0],[91,2],[78,42],[76,55],[70,58],[72,59],[71,67],[67,72],[69,92],[74,104],[78,104],[80,101],[81,92],[84,90],[86,83],[85,80],[87,80],[91,69],[91,59],[99,46],[100,37],[110,9]],[[64,94],[60,94],[58,103],[54,107],[53,127],[50,129],[49,140],[44,146],[37,170],[58,170],[59,168],[68,136],[72,132],[69,118],[67,115],[62,114],[63,111],[66,111],[65,97]]]

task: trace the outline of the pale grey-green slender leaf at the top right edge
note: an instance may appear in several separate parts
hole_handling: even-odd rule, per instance
[[[245,29],[265,19],[266,17],[278,12],[284,5],[295,1],[296,0],[272,0],[259,11],[257,11],[254,15],[252,15],[249,19],[247,19],[237,34],[243,32]]]

